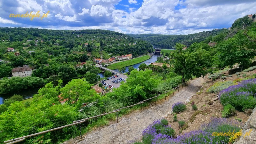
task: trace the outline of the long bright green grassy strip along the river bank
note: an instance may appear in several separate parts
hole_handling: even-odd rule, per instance
[[[139,58],[134,58],[132,60],[126,60],[126,61],[111,64],[111,65],[107,66],[107,68],[109,68],[109,69],[118,69],[119,67],[128,67],[128,66],[132,66],[134,64],[143,62],[145,60],[148,60],[149,58],[150,58],[149,55],[145,55],[145,56],[142,56],[142,57],[139,57]]]

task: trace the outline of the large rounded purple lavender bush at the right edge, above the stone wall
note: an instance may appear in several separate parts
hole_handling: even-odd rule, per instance
[[[241,81],[220,92],[222,105],[231,104],[236,109],[248,109],[256,106],[256,79]]]

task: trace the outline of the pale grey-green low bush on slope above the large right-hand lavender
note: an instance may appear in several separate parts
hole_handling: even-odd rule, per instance
[[[224,90],[231,85],[234,85],[232,81],[217,82],[213,84],[211,87],[209,87],[206,92],[219,93],[221,90]]]

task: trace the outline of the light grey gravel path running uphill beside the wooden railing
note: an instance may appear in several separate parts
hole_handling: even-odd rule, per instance
[[[84,140],[78,144],[106,144],[106,143],[129,143],[131,140],[140,140],[141,133],[156,119],[166,117],[172,110],[172,104],[182,101],[185,102],[190,96],[194,95],[205,82],[203,78],[192,80],[188,86],[183,87],[174,96],[161,104],[151,105],[143,109],[142,112],[135,111],[131,114],[118,118],[118,123],[110,124],[105,127],[97,128],[84,135]]]

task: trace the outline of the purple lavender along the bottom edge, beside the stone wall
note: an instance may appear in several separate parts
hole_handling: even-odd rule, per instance
[[[174,130],[171,127],[166,128],[165,132],[156,133],[156,130],[153,128],[154,124],[160,124],[160,120],[155,121],[153,124],[149,125],[147,129],[143,131],[143,143],[144,144],[198,144],[198,143],[228,143],[230,136],[212,136],[212,132],[239,132],[243,127],[241,122],[234,120],[228,120],[226,118],[212,118],[212,121],[208,124],[203,124],[198,131],[191,131],[180,135],[176,138],[170,136],[169,132],[174,133]],[[164,131],[161,129],[161,131]],[[160,132],[161,132],[160,131]]]

